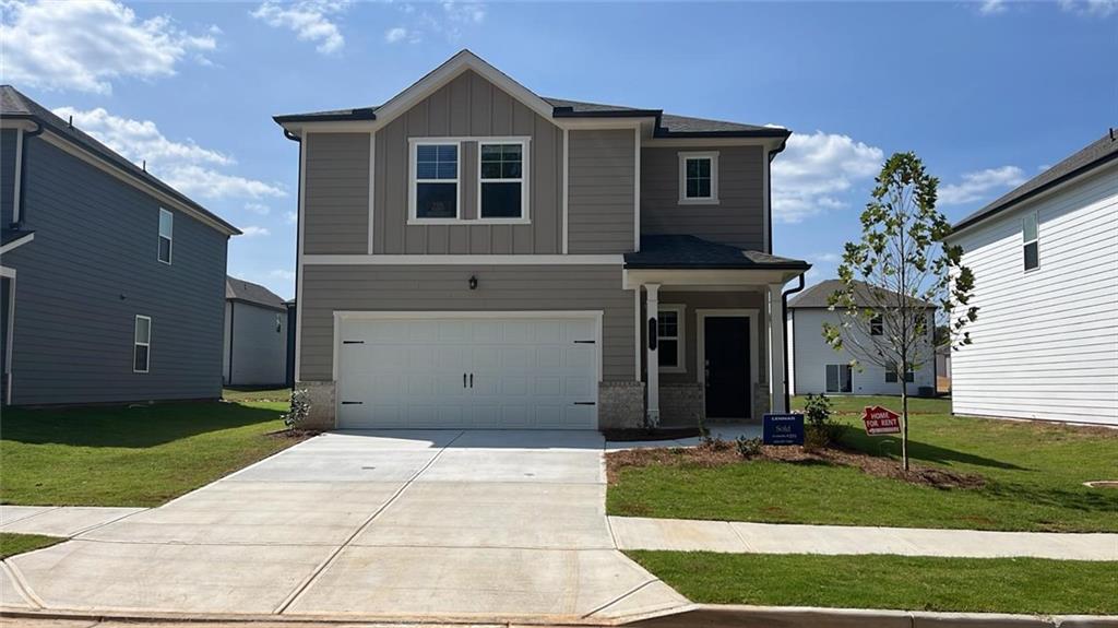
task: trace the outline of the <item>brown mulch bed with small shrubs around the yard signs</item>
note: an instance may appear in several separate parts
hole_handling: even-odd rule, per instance
[[[612,451],[606,455],[606,477],[610,484],[615,484],[620,472],[626,468],[655,465],[720,467],[724,465],[748,465],[754,460],[856,467],[864,473],[878,477],[889,477],[910,484],[942,489],[980,488],[986,485],[986,478],[980,475],[925,467],[913,465],[911,462],[909,464],[910,468],[906,473],[898,460],[870,456],[849,449],[815,449],[808,451],[803,447],[761,447],[760,455],[742,459],[732,445]]]

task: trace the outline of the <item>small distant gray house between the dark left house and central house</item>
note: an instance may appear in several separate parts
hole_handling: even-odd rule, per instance
[[[225,279],[226,386],[287,383],[287,305],[268,288]]]

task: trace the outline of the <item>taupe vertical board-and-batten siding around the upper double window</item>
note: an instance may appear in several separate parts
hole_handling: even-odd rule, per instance
[[[407,225],[408,137],[529,136],[530,225]],[[473,72],[377,132],[373,253],[558,254],[562,226],[562,132]],[[462,145],[464,218],[477,217],[477,144]]]

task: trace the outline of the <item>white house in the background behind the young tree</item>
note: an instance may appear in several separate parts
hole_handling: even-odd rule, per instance
[[[839,279],[821,282],[788,301],[788,343],[792,348],[788,362],[792,370],[793,394],[897,394],[900,396],[899,374],[877,364],[860,360],[855,367],[851,360],[856,355],[849,348],[835,351],[823,337],[823,324],[842,324],[841,313],[828,310],[827,299],[842,288]],[[854,289],[854,303],[860,307],[869,307],[878,301],[865,298],[869,284],[859,282]],[[932,351],[932,334],[936,329],[936,306],[931,303],[912,299],[927,310],[928,344],[922,348],[920,361],[922,365],[912,372],[904,373],[906,389],[909,394],[931,397],[936,391],[936,360]],[[882,333],[880,325],[871,322],[866,334]],[[870,346],[872,339],[865,337],[864,346]]]

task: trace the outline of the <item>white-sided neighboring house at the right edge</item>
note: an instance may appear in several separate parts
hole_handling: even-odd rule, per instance
[[[979,308],[951,355],[955,413],[1118,426],[1115,135],[955,226]]]

